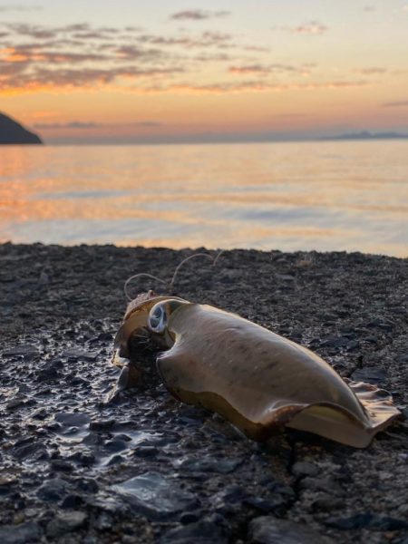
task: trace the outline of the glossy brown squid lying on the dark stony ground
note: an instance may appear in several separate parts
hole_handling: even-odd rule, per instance
[[[173,396],[219,413],[253,440],[288,427],[364,448],[401,414],[384,390],[343,379],[302,345],[217,307],[152,291],[131,301],[115,338],[121,387],[139,379],[131,346],[146,334],[164,348],[157,371]]]

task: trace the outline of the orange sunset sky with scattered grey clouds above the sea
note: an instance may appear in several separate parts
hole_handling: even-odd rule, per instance
[[[0,111],[49,143],[408,132],[408,0],[0,0]]]

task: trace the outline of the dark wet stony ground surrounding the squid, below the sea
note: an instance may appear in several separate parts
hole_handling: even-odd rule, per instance
[[[0,541],[406,544],[403,419],[364,450],[290,430],[252,442],[172,398],[152,349],[144,384],[104,403],[124,281],[170,279],[192,253],[0,246]],[[227,251],[189,261],[174,294],[306,345],[406,415],[408,259]]]

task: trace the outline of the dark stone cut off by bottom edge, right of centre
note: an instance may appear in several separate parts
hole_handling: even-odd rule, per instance
[[[329,544],[325,539],[306,525],[288,520],[277,520],[272,516],[255,518],[249,523],[249,542],[251,544]]]

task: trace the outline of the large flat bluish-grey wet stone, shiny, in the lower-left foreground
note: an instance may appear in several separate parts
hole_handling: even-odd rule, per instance
[[[131,507],[151,520],[165,520],[180,511],[193,510],[197,500],[189,491],[156,472],[145,472],[112,486]]]

